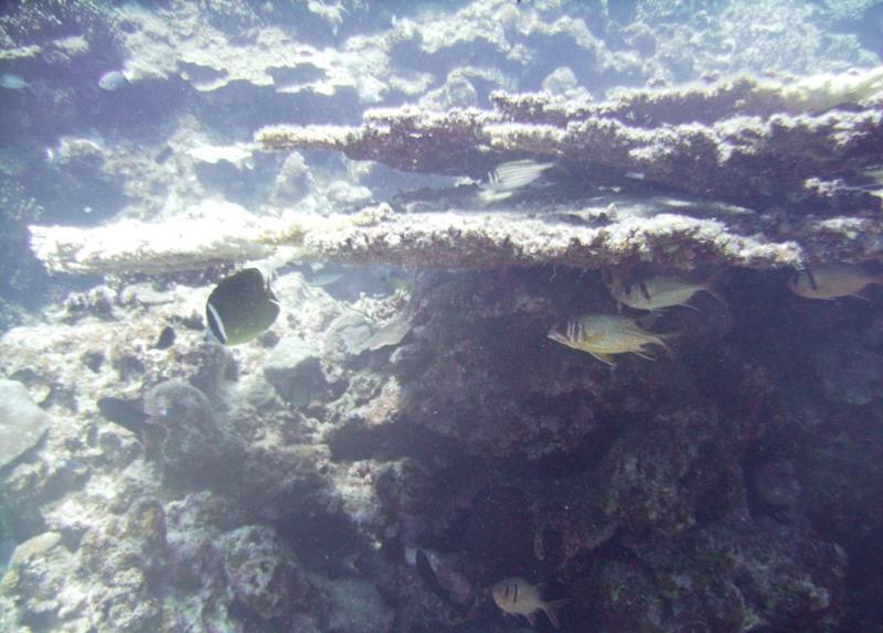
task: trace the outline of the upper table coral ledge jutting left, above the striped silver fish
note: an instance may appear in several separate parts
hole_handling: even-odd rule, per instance
[[[479,175],[490,161],[542,154],[588,176],[591,165],[604,165],[737,203],[784,200],[809,178],[883,155],[883,67],[624,90],[600,103],[545,93],[492,100],[494,110],[370,110],[358,128],[272,126],[256,139],[267,150],[333,149],[428,173]]]

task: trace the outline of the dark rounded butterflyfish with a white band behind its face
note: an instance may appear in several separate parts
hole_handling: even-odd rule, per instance
[[[279,315],[269,279],[246,268],[222,279],[205,302],[205,340],[240,345],[266,332]]]

